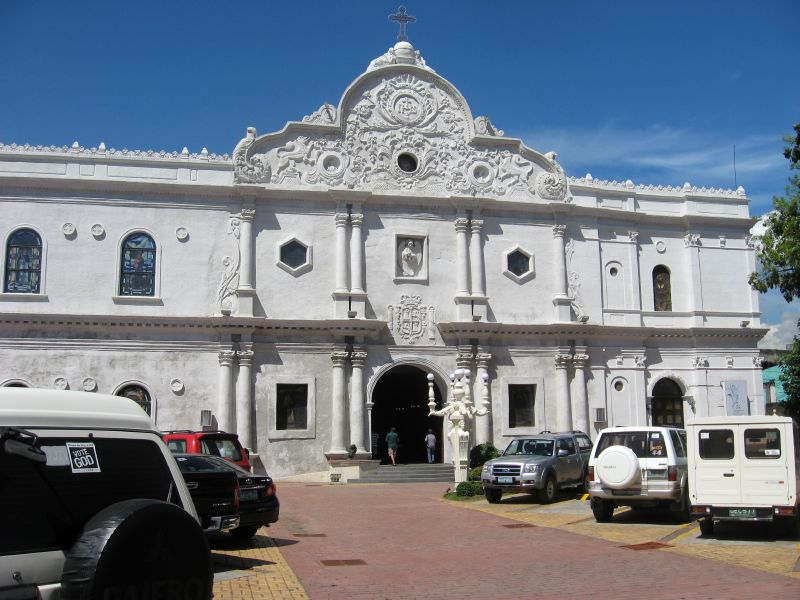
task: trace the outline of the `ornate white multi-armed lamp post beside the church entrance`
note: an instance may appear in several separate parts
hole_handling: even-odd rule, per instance
[[[441,410],[436,410],[436,398],[433,393],[433,373],[428,374],[428,415],[447,416],[447,438],[453,448],[453,466],[456,483],[467,481],[467,465],[469,463],[469,431],[473,417],[482,417],[489,413],[489,375],[484,373],[481,408],[475,408],[470,392],[469,369],[456,369],[450,375],[452,382],[450,398]]]

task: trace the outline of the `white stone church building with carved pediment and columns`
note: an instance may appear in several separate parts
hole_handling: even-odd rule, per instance
[[[0,385],[128,395],[277,477],[390,427],[447,462],[457,369],[500,448],[763,414],[751,224],[742,188],[568,177],[403,40],[231,156],[0,144]]]

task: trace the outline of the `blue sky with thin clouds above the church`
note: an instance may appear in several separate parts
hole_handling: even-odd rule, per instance
[[[230,153],[347,85],[397,1],[0,1],[0,142]],[[406,2],[409,40],[570,175],[783,194],[800,121],[797,0]],[[800,306],[762,297],[772,345]]]

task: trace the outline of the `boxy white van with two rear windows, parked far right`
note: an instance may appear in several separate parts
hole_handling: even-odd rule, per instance
[[[785,521],[800,531],[800,435],[789,417],[702,417],[686,425],[689,498],[700,531],[714,521]]]

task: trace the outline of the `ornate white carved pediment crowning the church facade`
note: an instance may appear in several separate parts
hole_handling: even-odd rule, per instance
[[[398,46],[370,64],[338,108],[323,104],[279,133],[248,129],[234,151],[235,182],[565,201],[555,154],[473,119],[449,82],[409,44]]]

